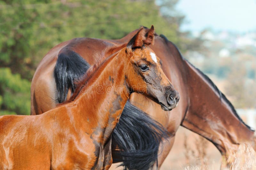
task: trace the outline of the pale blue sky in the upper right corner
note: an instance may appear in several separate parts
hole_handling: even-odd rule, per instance
[[[180,0],[177,9],[188,21],[182,30],[256,30],[256,0]]]

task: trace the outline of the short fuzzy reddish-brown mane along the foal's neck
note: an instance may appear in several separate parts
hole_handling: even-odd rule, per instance
[[[116,56],[116,54],[126,47],[127,43],[124,43],[119,46],[113,46],[109,47],[99,53],[95,53],[95,58],[97,58],[97,61],[95,62],[94,65],[92,65],[88,71],[85,73],[84,77],[81,79],[81,81],[75,82],[76,89],[72,96],[69,98],[69,100],[63,102],[62,104],[69,103],[71,101],[74,101],[78,94],[81,91],[81,87],[84,86],[90,79],[92,79],[93,75],[97,72],[97,70],[100,69],[100,67],[106,67],[108,64],[108,61],[110,58]]]

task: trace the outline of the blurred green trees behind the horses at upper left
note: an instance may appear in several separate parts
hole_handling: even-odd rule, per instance
[[[174,10],[178,0],[162,1],[162,6],[153,0],[0,1],[1,114],[29,113],[29,81],[43,56],[61,42],[75,37],[117,39],[154,24],[157,33],[182,44],[184,16],[162,10],[166,4],[165,9]]]

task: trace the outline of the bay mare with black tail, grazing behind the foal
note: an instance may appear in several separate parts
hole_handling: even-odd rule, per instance
[[[76,88],[74,81],[83,77],[88,67],[97,61],[95,53],[128,42],[136,32],[119,40],[75,38],[52,48],[40,62],[32,80],[31,114],[44,113],[67,100]],[[161,58],[164,73],[180,92],[180,102],[177,108],[166,112],[157,103],[133,93],[113,133],[113,143],[123,149],[122,156],[113,154],[114,160],[124,161],[130,169],[142,169],[158,156],[158,166],[161,166],[180,125],[211,141],[224,158],[240,143],[250,143],[255,149],[254,130],[241,120],[233,105],[204,73],[184,59],[164,35],[155,35],[155,44],[150,47]],[[152,119],[138,120],[145,112]],[[133,122],[135,127],[125,122]],[[161,126],[167,129],[169,136],[158,146],[159,140],[152,139],[164,135]],[[145,134],[151,136],[147,138]],[[159,154],[158,148],[163,148]],[[116,150],[112,148],[112,152]]]

